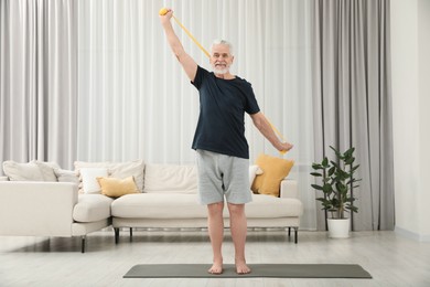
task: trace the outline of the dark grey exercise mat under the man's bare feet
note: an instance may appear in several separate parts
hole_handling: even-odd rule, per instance
[[[238,275],[234,264],[224,264],[221,275],[208,274],[208,264],[139,264],[123,278],[372,278],[356,264],[248,264],[251,273]]]

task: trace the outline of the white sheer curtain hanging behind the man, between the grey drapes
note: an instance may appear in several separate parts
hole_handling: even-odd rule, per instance
[[[191,141],[198,115],[197,91],[171,53],[158,11],[171,7],[209,49],[214,39],[233,42],[233,73],[249,81],[261,110],[294,144],[305,212],[303,228],[315,228],[311,91],[311,3],[254,1],[78,1],[79,160],[193,163]],[[173,20],[172,20],[173,21]],[[174,23],[185,50],[209,68],[208,60]],[[251,162],[278,152],[247,117]]]

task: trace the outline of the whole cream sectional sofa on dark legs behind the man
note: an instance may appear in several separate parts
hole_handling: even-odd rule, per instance
[[[100,167],[108,170],[108,177],[132,176],[138,192],[119,198],[78,192],[85,183],[80,174],[84,169]],[[73,182],[0,178],[0,235],[80,236],[84,253],[86,235],[110,225],[116,243],[121,228],[130,230],[131,235],[136,227],[206,226],[206,208],[198,204],[194,166],[76,162],[75,171],[53,171],[58,181]],[[250,180],[255,172],[256,167],[250,167]],[[252,202],[246,205],[249,227],[286,227],[289,235],[293,228],[295,243],[302,213],[297,182],[289,179],[280,184],[280,198],[252,194]],[[224,216],[228,226],[228,212]]]

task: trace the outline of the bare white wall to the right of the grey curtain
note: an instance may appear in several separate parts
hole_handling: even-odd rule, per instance
[[[396,231],[430,241],[430,1],[391,0]]]

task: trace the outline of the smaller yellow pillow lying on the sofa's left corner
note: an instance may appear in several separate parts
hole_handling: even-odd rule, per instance
[[[133,177],[126,179],[116,178],[97,178],[98,184],[101,188],[101,194],[110,198],[119,198],[125,194],[138,193]]]

